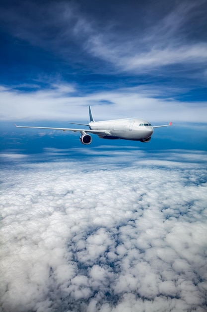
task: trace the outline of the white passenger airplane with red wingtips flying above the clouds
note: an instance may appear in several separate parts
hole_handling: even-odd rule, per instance
[[[36,129],[52,129],[62,131],[80,132],[80,142],[84,145],[91,144],[92,137],[90,134],[95,134],[101,139],[123,139],[140,141],[148,143],[155,128],[172,126],[172,122],[163,126],[152,126],[148,121],[140,118],[125,118],[106,121],[95,121],[93,118],[91,106],[89,105],[89,124],[70,123],[74,125],[88,126],[89,129],[75,128],[51,128],[51,127],[31,127],[31,126],[16,126],[17,128],[36,128]]]

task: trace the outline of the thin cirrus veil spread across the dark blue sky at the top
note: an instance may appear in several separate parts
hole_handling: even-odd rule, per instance
[[[201,11],[206,9],[204,1],[184,1],[169,7],[165,4],[164,12],[156,4],[143,7],[144,17],[140,15],[139,7],[129,4],[126,8],[129,12],[137,10],[130,26],[121,15],[115,15],[115,19],[112,13],[96,16],[81,10],[80,3],[66,1],[45,3],[41,7],[34,2],[24,3],[9,13],[4,11],[1,19],[7,18],[8,28],[18,38],[56,50],[70,60],[72,56],[76,61],[75,54],[81,54],[81,60],[88,61],[85,51],[113,64],[114,70],[124,72],[140,74],[141,70],[143,74],[163,65],[186,63],[201,72],[201,65],[207,61],[206,40],[201,35]],[[28,13],[30,11],[35,14]],[[192,30],[195,19],[198,29]],[[189,33],[194,35],[193,40]],[[113,72],[113,68],[111,70]]]

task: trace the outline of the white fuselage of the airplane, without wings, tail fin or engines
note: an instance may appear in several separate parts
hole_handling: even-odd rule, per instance
[[[146,140],[153,134],[153,127],[140,118],[115,119],[90,122],[91,130],[108,130],[110,135],[98,135],[103,139]]]

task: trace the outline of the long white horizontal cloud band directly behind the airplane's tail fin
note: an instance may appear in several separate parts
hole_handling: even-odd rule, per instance
[[[65,84],[56,84],[55,89],[52,85],[46,90],[32,92],[7,88],[0,91],[1,120],[88,121],[87,105],[92,104],[95,120],[127,118],[133,115],[151,123],[166,123],[170,120],[206,123],[205,102],[181,102],[172,99],[171,92],[172,90],[161,90],[155,86],[99,91],[87,95],[77,94],[73,86]],[[162,98],[163,94],[165,99]],[[99,106],[103,100],[113,104]]]

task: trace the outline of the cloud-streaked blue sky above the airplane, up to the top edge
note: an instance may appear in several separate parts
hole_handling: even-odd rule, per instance
[[[179,132],[206,150],[206,10],[202,0],[2,1],[1,130],[88,122],[91,104],[96,120],[172,121],[162,130],[172,148]]]

